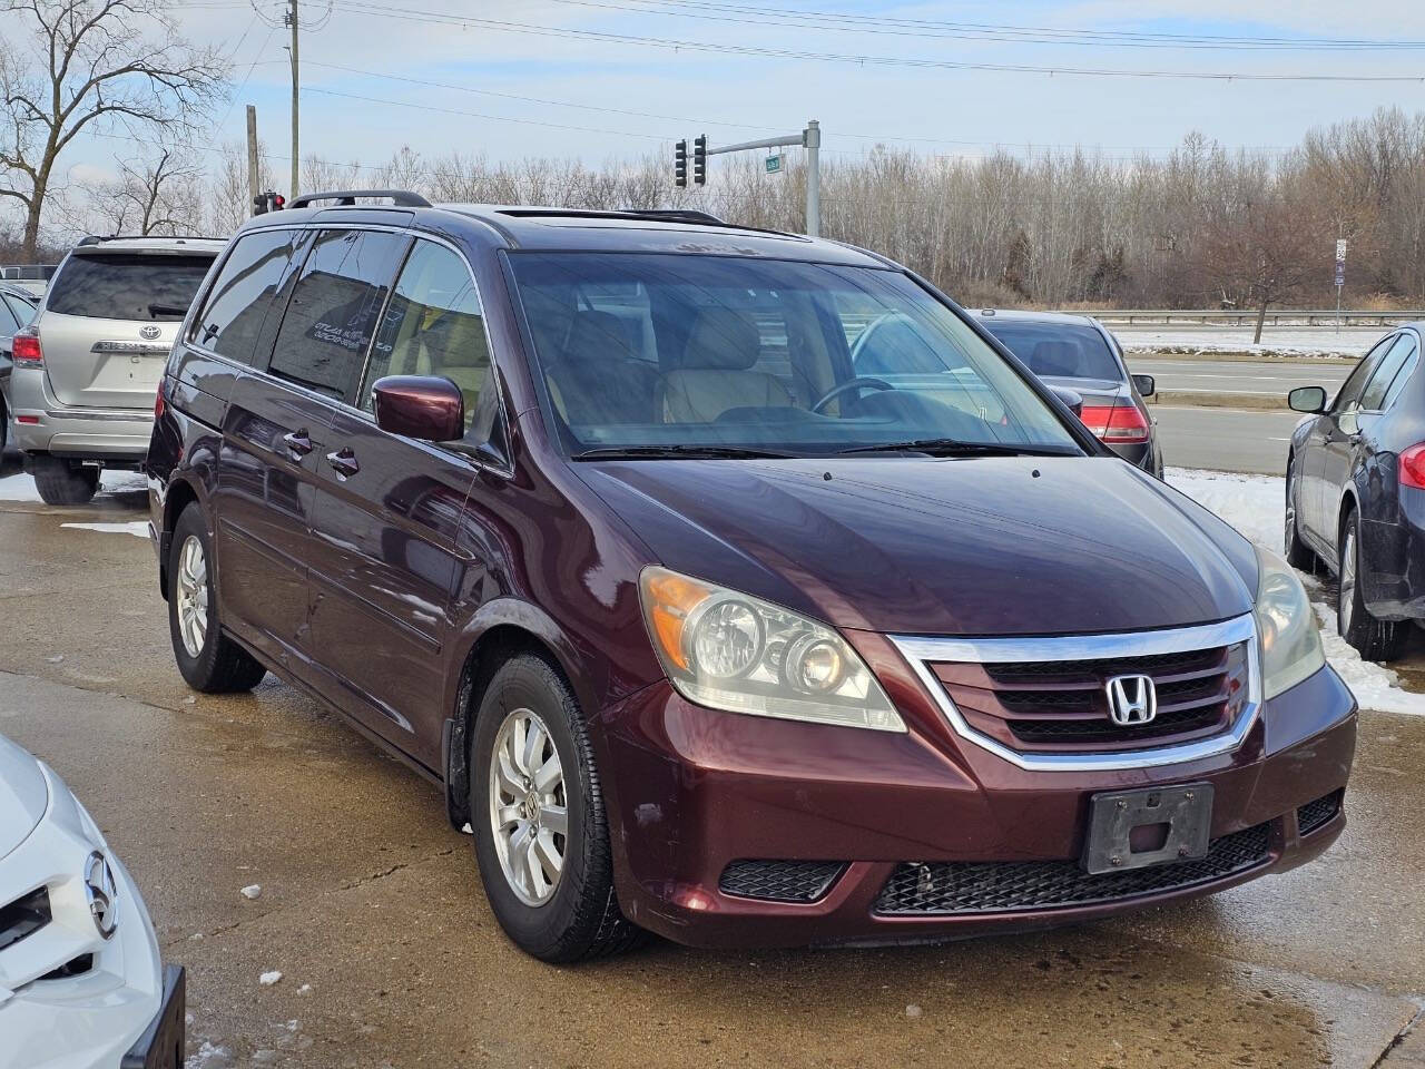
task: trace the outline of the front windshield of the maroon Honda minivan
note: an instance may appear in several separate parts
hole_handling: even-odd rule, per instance
[[[576,458],[1080,452],[993,348],[898,271],[653,252],[509,261]]]

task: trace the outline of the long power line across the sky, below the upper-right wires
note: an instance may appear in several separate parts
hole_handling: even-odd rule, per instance
[[[933,70],[976,70],[1009,74],[1072,74],[1086,77],[1116,78],[1187,78],[1198,81],[1327,81],[1327,83],[1425,83],[1425,74],[1277,74],[1277,73],[1224,73],[1224,71],[1181,71],[1181,70],[1121,70],[1113,67],[1040,66],[1027,63],[979,63],[969,60],[928,60],[898,56],[869,56],[856,53],[825,53],[802,48],[778,48],[755,44],[722,44],[712,41],[684,40],[674,37],[640,37],[636,34],[608,33],[603,30],[576,30],[559,26],[540,26],[503,19],[477,19],[442,11],[420,11],[415,9],[375,6],[362,0],[333,0],[338,7],[352,14],[423,21],[442,26],[477,26],[502,33],[532,34],[563,40],[593,40],[604,44],[636,44],[656,48],[718,53],[727,56],[748,56],[760,58],[812,60],[858,67],[909,67]]]

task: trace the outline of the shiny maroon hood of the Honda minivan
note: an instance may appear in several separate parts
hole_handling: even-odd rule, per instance
[[[839,627],[1067,634],[1251,609],[1250,543],[1113,458],[576,465],[660,563]]]

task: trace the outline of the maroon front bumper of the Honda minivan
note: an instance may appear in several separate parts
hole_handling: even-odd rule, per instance
[[[1297,822],[1298,808],[1341,797],[1355,751],[1355,701],[1330,667],[1265,703],[1231,753],[1094,773],[1020,770],[958,743],[906,673],[875,667],[908,734],[717,713],[667,684],[607,713],[616,882],[631,921],[698,946],[933,941],[1045,928],[1294,868],[1345,825],[1340,810],[1305,835]],[[885,899],[878,905],[906,865],[1050,862],[1062,871],[1082,854],[1093,794],[1196,781],[1214,788],[1214,841],[1230,844],[1248,831],[1263,837],[1251,864],[1082,905],[932,915],[892,914]],[[839,868],[815,901],[764,901],[721,887],[728,865],[745,859]]]

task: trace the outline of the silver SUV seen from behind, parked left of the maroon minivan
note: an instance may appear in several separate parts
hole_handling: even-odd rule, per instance
[[[224,242],[84,238],[13,342],[16,446],[50,505],[84,505],[101,468],[148,452],[164,361]]]

